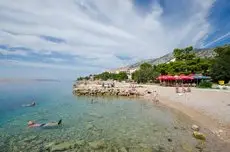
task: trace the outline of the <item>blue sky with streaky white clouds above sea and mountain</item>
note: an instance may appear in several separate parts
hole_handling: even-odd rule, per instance
[[[0,78],[74,80],[229,43],[229,0],[0,1]]]

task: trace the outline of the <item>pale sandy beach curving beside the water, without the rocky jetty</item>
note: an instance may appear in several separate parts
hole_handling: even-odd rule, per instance
[[[144,86],[157,91],[160,103],[185,113],[221,139],[230,142],[230,91],[192,88],[190,93],[177,94],[173,87]]]

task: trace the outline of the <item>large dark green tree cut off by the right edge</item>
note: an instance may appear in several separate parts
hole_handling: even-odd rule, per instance
[[[224,80],[227,83],[230,80],[230,45],[218,47],[214,51],[216,56],[210,75],[216,82]]]

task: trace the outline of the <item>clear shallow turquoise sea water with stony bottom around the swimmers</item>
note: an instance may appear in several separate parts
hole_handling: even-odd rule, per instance
[[[179,112],[146,101],[75,97],[71,92],[71,82],[1,83],[0,149],[50,151],[53,143],[69,142],[75,148],[66,151],[199,151],[200,141],[190,129],[193,122]],[[21,107],[32,99],[36,107]],[[29,120],[59,119],[63,125],[58,128],[27,127]],[[228,151],[227,145],[202,131],[208,139],[203,151]],[[103,144],[95,150],[90,144],[95,142]]]

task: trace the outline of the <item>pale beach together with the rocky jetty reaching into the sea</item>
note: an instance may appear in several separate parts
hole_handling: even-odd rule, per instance
[[[230,91],[192,88],[189,93],[177,94],[174,87],[136,84],[135,91],[132,92],[130,85],[116,82],[114,90],[118,89],[122,93],[114,93],[111,88],[101,88],[100,85],[95,85],[95,82],[90,82],[75,86],[73,93],[77,89],[83,89],[86,92],[78,95],[97,96],[97,94],[91,94],[96,89],[104,92],[99,96],[130,96],[151,102],[157,98],[164,106],[182,112],[197,125],[210,130],[219,139],[230,143]]]

